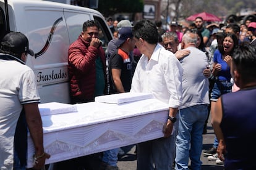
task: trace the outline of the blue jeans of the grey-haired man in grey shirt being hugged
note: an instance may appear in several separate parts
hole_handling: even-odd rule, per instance
[[[188,169],[189,158],[191,169],[201,169],[202,133],[207,115],[207,104],[195,105],[180,110],[175,169]]]

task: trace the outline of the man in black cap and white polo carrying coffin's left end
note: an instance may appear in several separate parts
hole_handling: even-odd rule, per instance
[[[40,97],[35,75],[25,65],[27,37],[19,32],[6,34],[0,49],[0,169],[24,169],[27,164],[27,128],[35,147],[34,168],[45,165],[43,128],[38,109]]]

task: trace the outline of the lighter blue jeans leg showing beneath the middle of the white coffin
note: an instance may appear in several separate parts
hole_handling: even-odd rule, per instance
[[[114,148],[111,150],[106,150],[103,152],[102,161],[109,164],[110,166],[117,166],[117,160],[118,160],[118,151],[119,148]]]

